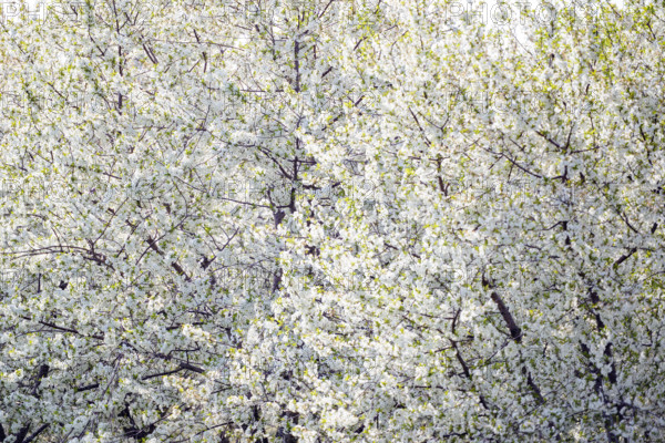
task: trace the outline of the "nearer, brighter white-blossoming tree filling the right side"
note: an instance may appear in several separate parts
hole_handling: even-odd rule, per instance
[[[657,440],[661,12],[522,9],[520,45],[426,7],[345,59],[374,112],[304,137],[371,200],[303,198],[275,394],[311,440]]]

